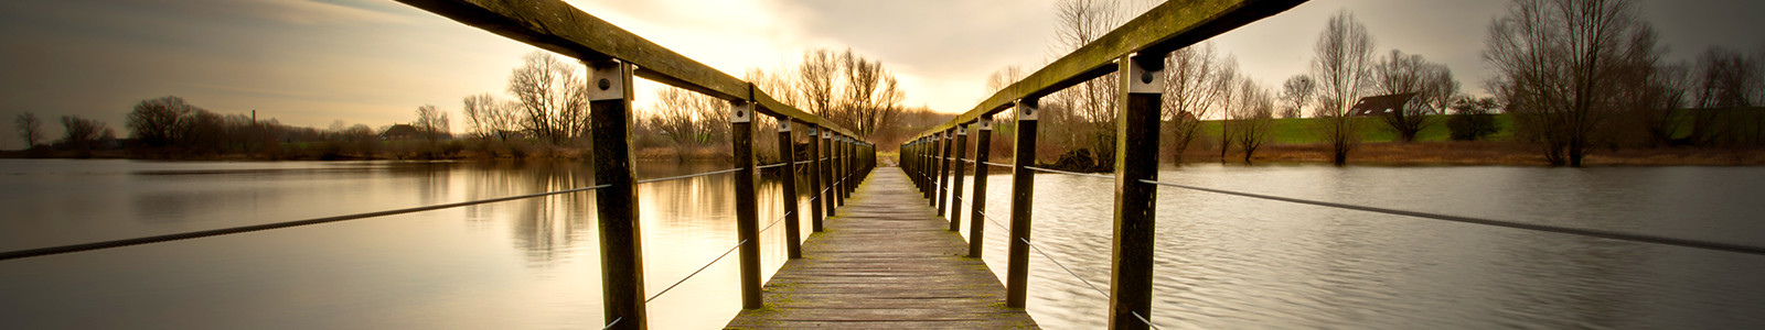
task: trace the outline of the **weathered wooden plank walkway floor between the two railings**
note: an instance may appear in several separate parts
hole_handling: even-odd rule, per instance
[[[1036,328],[900,167],[877,167],[824,225],[729,328]]]

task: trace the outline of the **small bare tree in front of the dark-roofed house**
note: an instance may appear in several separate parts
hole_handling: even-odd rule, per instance
[[[1384,116],[1386,125],[1398,132],[1403,142],[1416,140],[1417,132],[1435,125],[1428,114],[1446,107],[1458,93],[1453,70],[1446,65],[1398,49],[1391,49],[1389,56],[1373,65],[1373,84],[1386,95],[1416,93],[1410,102]]]

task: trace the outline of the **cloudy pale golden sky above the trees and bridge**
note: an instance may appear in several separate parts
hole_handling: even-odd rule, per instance
[[[794,65],[805,49],[881,60],[904,105],[962,112],[988,97],[987,75],[1034,70],[1055,58],[1055,0],[567,0],[568,4],[741,77]],[[1133,0],[1128,0],[1133,2]],[[1213,39],[1244,74],[1278,86],[1306,70],[1324,21],[1350,11],[1378,53],[1401,49],[1446,63],[1467,93],[1491,75],[1483,40],[1506,0],[1313,0]],[[1765,2],[1641,0],[1641,14],[1689,60],[1710,46],[1765,51]],[[0,2],[0,149],[23,147],[11,119],[106,121],[125,135],[134,104],[166,95],[222,112],[327,128],[387,126],[425,104],[507,97],[535,47],[390,0],[12,0]],[[639,82],[637,107],[658,84]]]

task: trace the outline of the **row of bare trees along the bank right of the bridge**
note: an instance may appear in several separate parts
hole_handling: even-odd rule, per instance
[[[1131,11],[1158,2],[1061,0],[1050,54],[1061,56],[1121,26]],[[1765,44],[1761,44],[1765,46]],[[1244,75],[1211,42],[1165,58],[1163,142],[1181,161],[1202,121],[1218,119],[1220,158],[1232,147],[1248,161],[1276,118],[1315,118],[1313,133],[1333,163],[1361,144],[1363,125],[1378,123],[1412,142],[1437,125],[1458,140],[1497,132],[1495,114],[1514,118],[1516,140],[1537,146],[1551,165],[1580,167],[1596,147],[1765,146],[1765,47],[1747,54],[1724,46],[1694,63],[1668,63],[1666,47],[1638,16],[1636,0],[1511,0],[1488,28],[1484,61],[1497,77],[1491,97],[1472,97],[1444,63],[1401,49],[1378,51],[1352,12],[1331,16],[1306,72],[1267,88]],[[1022,79],[1006,67],[988,79],[997,91]],[[1094,170],[1112,167],[1117,98],[1114,74],[1043,98],[1038,154],[1085,151]],[[1412,95],[1391,112],[1364,118],[1356,105],[1375,95]],[[1451,116],[1442,116],[1451,114]],[[1371,119],[1371,121],[1370,121]],[[1064,156],[1063,156],[1064,158]]]

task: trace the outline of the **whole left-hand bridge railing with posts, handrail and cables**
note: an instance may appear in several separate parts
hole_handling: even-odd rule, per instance
[[[582,12],[561,0],[399,0],[402,4],[450,18],[454,21],[484,28],[487,32],[521,40],[540,49],[572,56],[590,67],[590,137],[591,167],[595,186],[515,195],[457,204],[424,205],[365,214],[332,216],[318,219],[298,219],[284,223],[267,223],[219,230],[201,230],[185,233],[152,235],[138,239],[120,239],[72,246],[53,246],[39,249],[21,249],[0,253],[0,260],[49,256],[62,253],[79,253],[94,249],[111,249],[138,244],[169,242],[184,239],[201,239],[215,235],[249,233],[275,228],[307,226],[335,221],[369,219],[392,214],[422,212],[491,202],[538,198],[563,193],[595,191],[597,219],[600,230],[602,260],[602,298],[607,325],[605,328],[648,328],[644,304],[687,277],[667,286],[655,295],[644,295],[642,242],[637,214],[637,186],[642,183],[688,179],[699,176],[734,174],[736,190],[736,246],[741,260],[741,305],[743,309],[762,307],[761,300],[761,256],[759,232],[785,223],[785,248],[789,258],[801,258],[800,209],[796,191],[796,174],[807,174],[810,198],[810,228],[822,230],[822,219],[833,216],[845,198],[858,188],[858,181],[867,177],[875,167],[875,144],[865,140],[856,132],[808,114],[789,104],[782,104],[766,95],[748,81],[731,77],[717,68],[706,67],[692,58],[681,56],[655,42],[625,32],[607,21]],[[674,88],[704,93],[729,100],[731,144],[734,151],[734,169],[690,174],[680,177],[635,179],[632,158],[632,82],[644,77]],[[755,165],[754,123],[755,116],[777,119],[780,163]],[[798,130],[801,128],[801,130]],[[805,132],[807,146],[800,144]],[[807,160],[796,160],[800,154]],[[782,207],[785,214],[759,228],[759,204],[755,179],[761,169],[785,167]],[[717,263],[725,251],[711,263]],[[710,263],[706,265],[710,267]],[[699,270],[704,270],[701,267]]]

